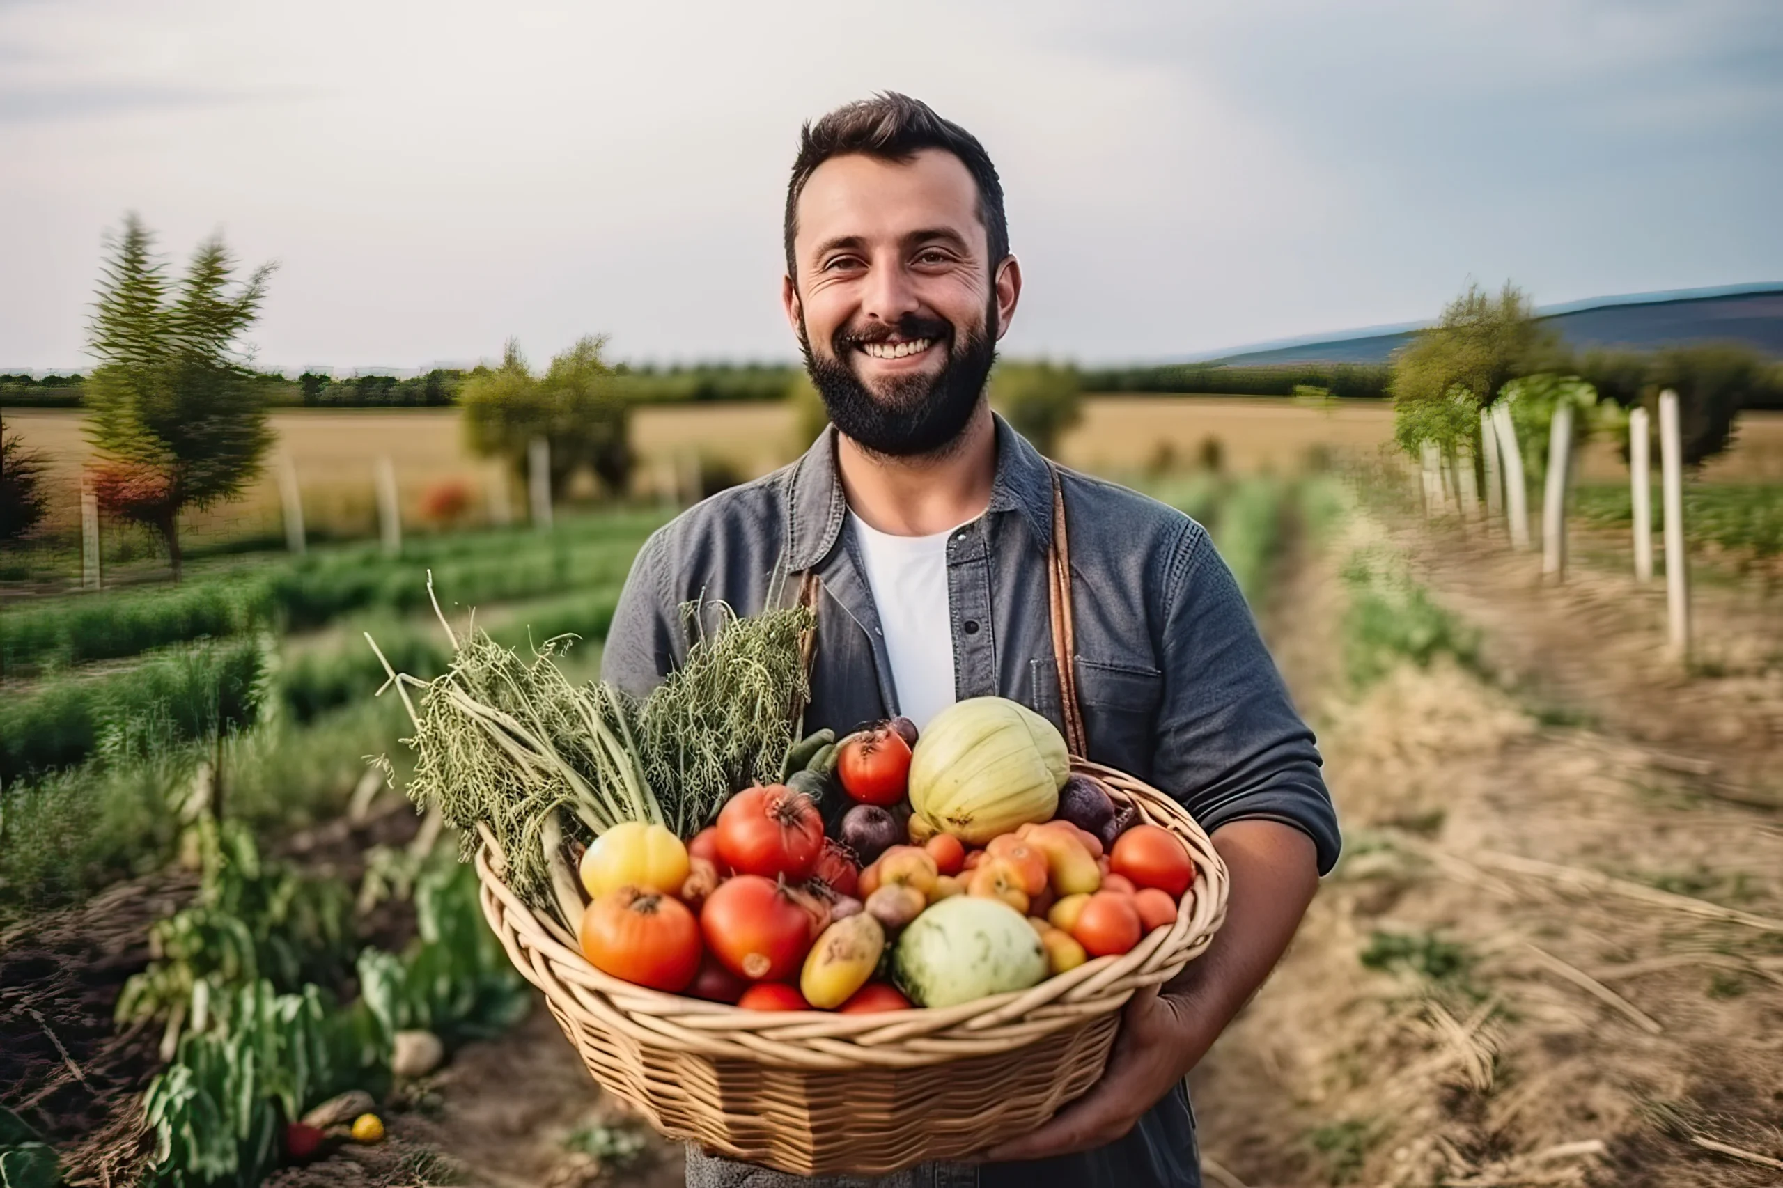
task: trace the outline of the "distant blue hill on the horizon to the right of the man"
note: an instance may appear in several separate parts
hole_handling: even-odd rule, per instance
[[[1783,284],[1685,293],[1592,298],[1539,310],[1541,319],[1574,348],[1653,350],[1683,342],[1746,342],[1783,359]],[[1416,326],[1334,335],[1223,355],[1209,362],[1234,367],[1278,364],[1384,364]]]

